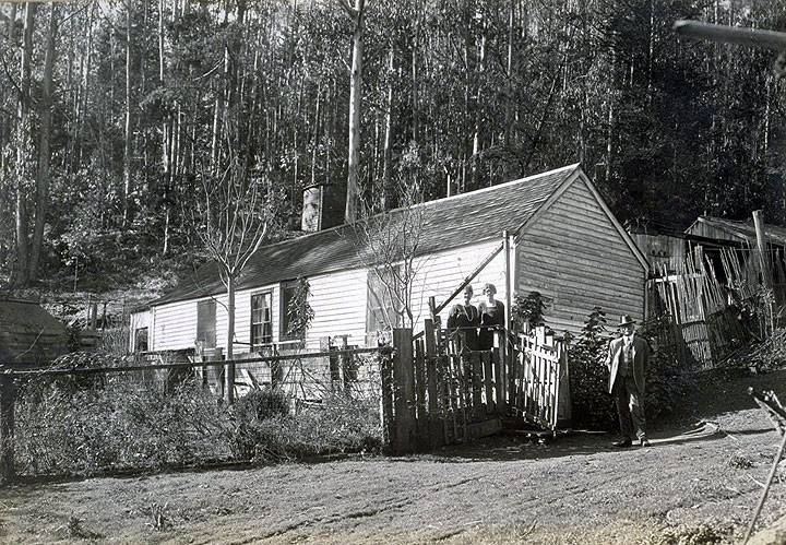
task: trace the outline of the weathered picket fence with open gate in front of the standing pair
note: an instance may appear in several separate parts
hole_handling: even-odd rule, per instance
[[[522,419],[555,430],[570,418],[567,352],[538,329],[496,332],[491,351],[456,353],[439,324],[393,332],[382,366],[382,412],[393,452],[466,442]]]

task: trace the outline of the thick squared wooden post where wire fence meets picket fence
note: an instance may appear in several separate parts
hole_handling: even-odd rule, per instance
[[[415,428],[415,366],[410,329],[393,330],[393,383],[395,395],[395,452],[408,452]]]

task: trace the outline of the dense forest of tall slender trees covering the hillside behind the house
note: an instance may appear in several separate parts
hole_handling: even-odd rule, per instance
[[[575,162],[634,225],[757,208],[786,221],[774,52],[671,32],[677,19],[784,29],[784,0],[347,8],[0,3],[0,286],[106,288],[193,256],[201,183],[228,164],[275,201],[271,237],[300,228],[308,188],[324,191],[327,226],[348,178],[380,210],[398,178],[434,199]]]

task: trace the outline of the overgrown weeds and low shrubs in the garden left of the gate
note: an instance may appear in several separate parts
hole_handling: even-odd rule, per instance
[[[379,451],[376,401],[329,396],[289,412],[276,390],[223,405],[198,380],[167,371],[21,384],[15,460],[26,475],[95,475],[228,461]]]

